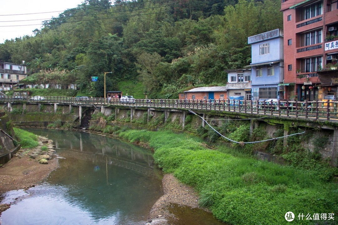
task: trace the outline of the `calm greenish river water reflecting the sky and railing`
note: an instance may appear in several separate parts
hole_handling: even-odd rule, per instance
[[[60,167],[27,191],[4,194],[1,203],[15,203],[2,213],[1,225],[146,223],[163,194],[162,173],[149,150],[90,133],[25,130],[54,141]],[[187,210],[177,224],[219,224],[204,211]]]

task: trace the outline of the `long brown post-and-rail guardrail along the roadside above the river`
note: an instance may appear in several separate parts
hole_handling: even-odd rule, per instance
[[[168,107],[177,109],[219,110],[251,115],[271,115],[288,118],[327,120],[338,122],[338,101],[248,101],[231,99],[178,100],[178,99],[120,99],[75,98],[58,96],[1,97],[0,102],[45,102],[83,105],[129,105]]]

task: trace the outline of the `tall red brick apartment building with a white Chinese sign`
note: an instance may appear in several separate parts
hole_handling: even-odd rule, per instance
[[[281,0],[284,20],[286,99],[316,100],[337,96],[337,0]],[[331,82],[330,82],[331,81]]]

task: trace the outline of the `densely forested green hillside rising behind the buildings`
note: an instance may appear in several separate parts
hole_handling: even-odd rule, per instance
[[[79,0],[80,1],[80,0]],[[26,61],[31,82],[76,83],[177,98],[191,86],[224,85],[249,65],[247,37],[283,28],[280,0],[85,0],[44,22],[35,36],[0,44],[0,59]],[[91,82],[91,76],[98,76]],[[138,89],[138,90],[136,90]]]

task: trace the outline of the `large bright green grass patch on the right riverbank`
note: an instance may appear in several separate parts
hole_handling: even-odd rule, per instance
[[[298,214],[338,213],[338,184],[316,170],[301,170],[250,157],[206,149],[201,140],[169,131],[127,130],[120,136],[154,148],[156,164],[200,193],[200,204],[229,224],[289,224]],[[329,176],[332,170],[327,170]],[[320,175],[321,174],[321,175]],[[319,222],[319,221],[314,221]]]

